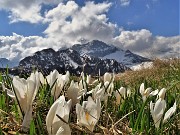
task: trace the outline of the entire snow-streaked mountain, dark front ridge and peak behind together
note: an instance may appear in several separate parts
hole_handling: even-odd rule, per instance
[[[105,72],[124,72],[130,70],[129,66],[146,61],[150,60],[129,50],[121,50],[102,41],[93,40],[58,51],[51,48],[38,51],[22,59],[17,69],[23,73],[29,73],[33,69],[45,73],[53,69],[57,69],[60,73],[68,70],[76,75],[82,71],[96,75],[100,71],[102,75]]]

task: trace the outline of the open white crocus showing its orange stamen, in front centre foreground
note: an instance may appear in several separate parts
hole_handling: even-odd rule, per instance
[[[88,97],[88,101],[83,101],[82,106],[77,103],[76,113],[78,125],[85,126],[93,132],[101,113],[100,99],[96,99],[95,103],[91,97]]]

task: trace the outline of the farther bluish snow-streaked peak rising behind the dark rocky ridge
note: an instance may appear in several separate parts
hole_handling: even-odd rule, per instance
[[[150,61],[150,59],[134,54],[129,50],[118,49],[113,45],[108,45],[98,40],[93,40],[92,42],[88,42],[86,44],[76,44],[71,48],[79,52],[81,56],[86,54],[102,59],[114,59],[126,66]]]

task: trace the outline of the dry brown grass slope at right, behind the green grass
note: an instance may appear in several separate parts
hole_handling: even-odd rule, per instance
[[[144,80],[151,80],[151,81],[153,80],[156,82],[162,82],[164,81],[164,79],[168,79],[169,75],[175,73],[176,72],[175,70],[179,70],[179,69],[180,69],[180,59],[168,59],[168,60],[155,59],[153,61],[152,68],[141,69],[138,71],[126,71],[125,73],[117,74],[116,80],[121,80],[126,85],[133,85],[138,82],[144,82]]]

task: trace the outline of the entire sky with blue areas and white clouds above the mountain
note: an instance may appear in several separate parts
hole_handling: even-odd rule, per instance
[[[146,57],[179,56],[179,0],[0,0],[0,58],[101,40]]]

